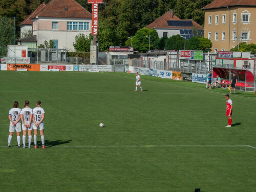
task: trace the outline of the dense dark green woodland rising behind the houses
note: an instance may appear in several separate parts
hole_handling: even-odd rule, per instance
[[[82,7],[91,12],[87,0],[76,0]],[[99,30],[104,31],[102,39],[111,37],[100,49],[109,45],[123,46],[127,37],[135,35],[139,29],[151,24],[154,20],[173,9],[181,19],[193,19],[204,25],[202,7],[213,0],[103,0],[99,5]],[[42,2],[50,0],[1,0],[0,17],[16,17],[16,36],[20,36],[19,24],[31,14]],[[0,22],[1,25],[1,22]],[[9,33],[5,31],[5,33]],[[0,33],[2,38],[3,34]],[[104,36],[104,37],[103,37]],[[0,39],[1,42],[1,39]]]

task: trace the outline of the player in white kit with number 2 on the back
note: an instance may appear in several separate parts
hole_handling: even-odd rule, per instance
[[[14,101],[13,108],[9,111],[10,127],[9,127],[9,137],[8,137],[8,147],[11,147],[11,140],[13,132],[16,131],[18,147],[20,147],[20,109],[18,108],[18,101]]]

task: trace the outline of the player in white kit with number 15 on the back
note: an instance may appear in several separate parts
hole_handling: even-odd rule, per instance
[[[42,148],[45,148],[45,136],[44,136],[44,118],[45,118],[45,110],[41,108],[41,101],[36,102],[36,108],[33,109],[33,122],[34,122],[34,143],[35,148],[36,146],[36,137],[37,137],[37,130],[39,127],[41,141],[42,141]]]

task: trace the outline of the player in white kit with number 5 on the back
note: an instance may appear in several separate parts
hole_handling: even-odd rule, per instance
[[[26,135],[28,130],[29,135],[29,148],[31,148],[31,140],[32,140],[32,130],[33,130],[33,110],[29,108],[29,101],[26,100],[24,103],[24,108],[22,109],[21,119],[22,119],[22,132],[23,132],[23,148],[26,148]]]

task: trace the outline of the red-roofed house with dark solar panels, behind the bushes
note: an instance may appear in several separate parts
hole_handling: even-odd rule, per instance
[[[181,35],[187,40],[193,36],[204,36],[204,28],[192,19],[180,19],[169,10],[146,28],[155,29],[159,38]]]

